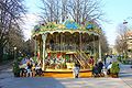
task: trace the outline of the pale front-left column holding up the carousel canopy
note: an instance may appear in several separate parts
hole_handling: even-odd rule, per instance
[[[45,57],[46,57],[45,44],[46,44],[46,37],[47,37],[46,33],[42,34],[42,40],[43,40],[43,67],[42,67],[42,69],[43,70],[45,70]]]

